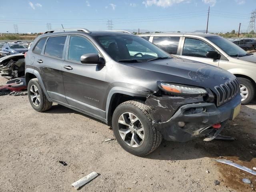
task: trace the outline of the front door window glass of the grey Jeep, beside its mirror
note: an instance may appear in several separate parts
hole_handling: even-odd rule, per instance
[[[98,50],[87,39],[71,36],[68,48],[68,60],[80,62],[80,57],[87,53],[98,53]]]

